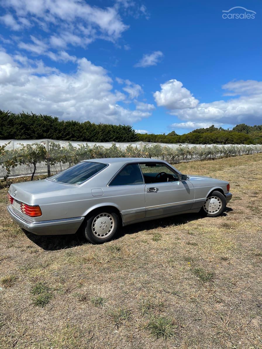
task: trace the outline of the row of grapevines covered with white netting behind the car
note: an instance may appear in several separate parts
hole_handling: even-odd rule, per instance
[[[55,174],[84,159],[106,157],[146,157],[170,163],[262,153],[262,145],[166,144],[148,142],[74,142],[42,140],[0,140],[0,178],[7,174],[26,176]]]

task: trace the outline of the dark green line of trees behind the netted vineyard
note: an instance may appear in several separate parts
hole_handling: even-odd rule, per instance
[[[192,144],[262,144],[262,125],[239,124],[232,130],[195,129],[182,135],[139,134],[130,125],[95,124],[90,121],[59,120],[34,113],[11,113],[0,110],[0,139],[54,139],[81,142],[153,142]]]

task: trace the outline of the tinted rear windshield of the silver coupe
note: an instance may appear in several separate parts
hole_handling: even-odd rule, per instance
[[[103,170],[106,166],[107,164],[101,164],[99,162],[80,162],[48,179],[65,184],[81,184],[97,172]]]

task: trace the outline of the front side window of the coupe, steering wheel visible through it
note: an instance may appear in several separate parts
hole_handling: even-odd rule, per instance
[[[140,164],[145,183],[174,182],[179,178],[177,173],[162,163]]]

